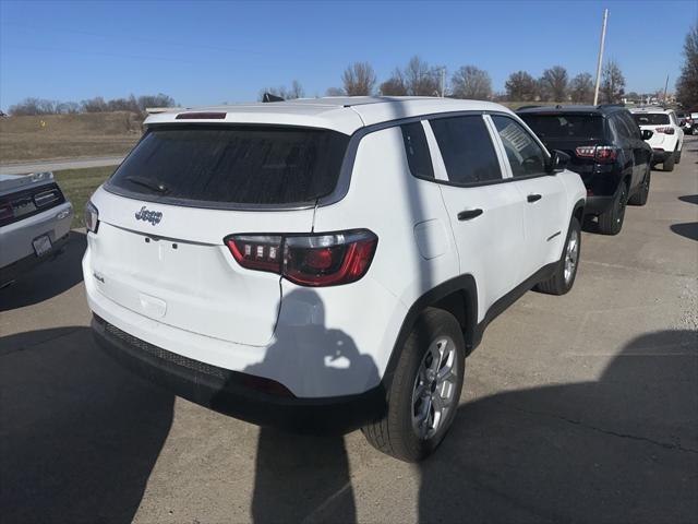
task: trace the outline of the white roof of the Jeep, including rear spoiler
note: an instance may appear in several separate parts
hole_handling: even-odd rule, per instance
[[[151,115],[159,123],[272,123],[323,128],[351,134],[365,126],[449,111],[513,112],[491,102],[417,96],[330,96],[296,100],[171,109]],[[182,115],[189,115],[182,117]],[[201,118],[196,118],[200,114]],[[208,114],[208,115],[206,115]],[[217,114],[217,115],[210,115]],[[222,114],[222,115],[221,115]],[[178,117],[180,117],[178,119]]]

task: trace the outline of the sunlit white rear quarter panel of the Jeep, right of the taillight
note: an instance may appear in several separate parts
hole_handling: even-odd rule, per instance
[[[377,235],[372,265],[354,284],[316,293],[327,326],[345,330],[382,374],[409,307],[459,273],[440,188],[411,176],[399,128],[364,136],[347,195],[317,210],[316,233],[348,228]]]

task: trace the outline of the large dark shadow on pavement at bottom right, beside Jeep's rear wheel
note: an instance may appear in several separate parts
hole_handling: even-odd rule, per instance
[[[662,331],[598,381],[464,404],[421,465],[420,522],[695,522],[696,384],[698,332]]]

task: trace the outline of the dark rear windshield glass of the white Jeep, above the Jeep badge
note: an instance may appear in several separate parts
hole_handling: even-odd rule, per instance
[[[348,141],[306,128],[154,128],[107,189],[204,204],[312,202],[335,189]]]

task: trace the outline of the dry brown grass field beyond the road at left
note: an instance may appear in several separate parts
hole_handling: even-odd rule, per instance
[[[125,154],[141,138],[127,111],[0,119],[0,163]]]

